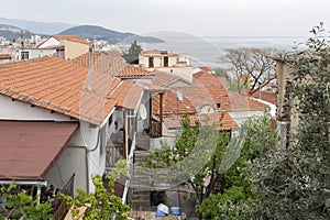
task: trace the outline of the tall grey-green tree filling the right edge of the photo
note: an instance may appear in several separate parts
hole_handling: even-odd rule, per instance
[[[330,217],[330,47],[322,24],[311,33],[307,50],[287,57],[297,132],[288,148],[270,151],[256,167],[254,215],[261,219]]]

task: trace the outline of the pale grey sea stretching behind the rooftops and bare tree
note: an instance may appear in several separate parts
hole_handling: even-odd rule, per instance
[[[275,48],[286,53],[295,47],[304,47],[307,36],[194,36],[183,33],[158,33],[152,36],[162,43],[142,43],[143,50],[166,50],[189,55],[193,66],[226,67],[221,57],[227,50],[239,47]]]

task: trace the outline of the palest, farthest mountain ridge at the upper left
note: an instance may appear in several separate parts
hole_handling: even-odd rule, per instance
[[[18,26],[20,29],[29,30],[33,33],[38,34],[56,34],[63,30],[75,26],[76,24],[61,23],[61,22],[38,22],[38,21],[28,21],[20,19],[7,19],[0,16],[0,24],[7,24],[12,26]]]

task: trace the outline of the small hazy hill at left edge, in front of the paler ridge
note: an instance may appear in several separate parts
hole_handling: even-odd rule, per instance
[[[12,25],[7,25],[7,24],[0,24],[0,36],[6,37],[7,40],[13,41],[16,40],[21,36],[24,38],[30,38],[31,35],[34,35],[35,33],[32,33],[30,31],[12,26]],[[42,37],[45,37],[47,35],[43,35]]]

